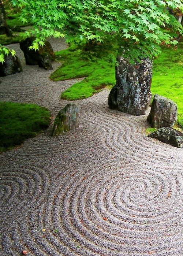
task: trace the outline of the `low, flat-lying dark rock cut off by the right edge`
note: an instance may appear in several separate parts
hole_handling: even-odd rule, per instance
[[[153,133],[150,133],[148,137],[155,138],[177,148],[183,148],[183,133],[172,127],[161,127]]]

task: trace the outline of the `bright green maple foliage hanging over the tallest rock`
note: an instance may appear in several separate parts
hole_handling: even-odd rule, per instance
[[[12,0],[31,19],[33,48],[46,37],[72,34],[81,41],[117,37],[128,57],[156,56],[161,44],[176,45],[182,26],[168,8],[182,10],[181,0]],[[177,34],[176,34],[177,33]]]

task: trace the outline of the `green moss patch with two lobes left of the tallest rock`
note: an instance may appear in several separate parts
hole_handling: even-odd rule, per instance
[[[61,94],[62,99],[76,100],[92,96],[107,85],[115,85],[115,56],[117,47],[102,49],[94,46],[90,51],[70,48],[56,52],[57,60],[63,62],[52,75],[53,81],[83,78]]]

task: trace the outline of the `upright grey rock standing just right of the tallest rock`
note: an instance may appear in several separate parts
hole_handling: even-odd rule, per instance
[[[152,107],[147,121],[152,127],[171,127],[177,120],[177,105],[172,101],[158,94],[154,95]]]

